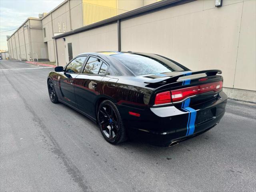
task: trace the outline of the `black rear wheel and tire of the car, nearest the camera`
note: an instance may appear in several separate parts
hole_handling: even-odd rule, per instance
[[[111,144],[119,144],[127,140],[126,130],[116,105],[104,100],[98,108],[98,124],[104,139]]]

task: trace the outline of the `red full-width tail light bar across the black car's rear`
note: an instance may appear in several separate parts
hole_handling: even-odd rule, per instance
[[[157,104],[165,104],[170,102],[178,102],[184,100],[189,96],[193,96],[196,94],[209,92],[209,91],[220,91],[222,90],[222,81],[212,82],[207,84],[202,84],[198,86],[192,86],[172,91],[166,91],[162,93],[156,94],[155,105]]]

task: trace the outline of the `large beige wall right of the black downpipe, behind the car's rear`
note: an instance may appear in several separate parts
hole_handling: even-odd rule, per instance
[[[121,22],[122,50],[152,52],[191,70],[220,69],[224,86],[256,90],[254,0],[198,0]],[[241,20],[242,18],[242,20]]]

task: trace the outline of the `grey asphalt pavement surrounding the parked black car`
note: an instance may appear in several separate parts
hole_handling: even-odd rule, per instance
[[[255,104],[229,100],[218,126],[171,148],[113,146],[50,102],[51,70],[0,61],[0,191],[256,191]]]

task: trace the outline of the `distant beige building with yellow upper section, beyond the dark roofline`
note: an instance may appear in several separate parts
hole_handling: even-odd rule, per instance
[[[10,58],[56,61],[53,36],[158,2],[159,0],[65,0],[49,13],[28,18],[7,37]]]

